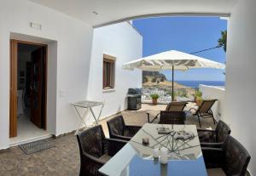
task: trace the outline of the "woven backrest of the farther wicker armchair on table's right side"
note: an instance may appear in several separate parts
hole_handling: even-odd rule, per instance
[[[231,133],[231,129],[225,122],[219,120],[215,132],[217,134],[217,141],[224,142],[226,137]]]

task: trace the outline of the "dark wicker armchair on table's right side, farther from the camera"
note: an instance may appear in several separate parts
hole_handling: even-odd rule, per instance
[[[201,146],[221,146],[226,137],[231,133],[230,127],[223,121],[218,121],[215,130],[197,129]],[[216,143],[220,143],[217,145]]]

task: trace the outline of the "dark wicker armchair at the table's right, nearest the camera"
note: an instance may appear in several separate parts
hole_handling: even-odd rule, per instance
[[[202,147],[207,173],[212,175],[244,176],[251,156],[247,150],[230,135],[221,149]]]

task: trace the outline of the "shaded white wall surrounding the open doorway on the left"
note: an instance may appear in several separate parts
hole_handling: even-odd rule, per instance
[[[32,29],[30,22],[42,24],[42,30]],[[79,119],[69,103],[86,98],[90,70],[93,32],[91,26],[26,0],[1,0],[0,149],[9,147],[9,39],[11,32],[55,41],[55,43],[49,43],[48,90],[50,94],[48,94],[48,101],[51,105],[47,105],[47,115],[50,133],[58,135],[77,127]]]

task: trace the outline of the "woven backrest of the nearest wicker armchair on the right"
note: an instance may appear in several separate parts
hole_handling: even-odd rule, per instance
[[[225,152],[224,172],[227,175],[244,176],[251,156],[232,136],[228,136],[223,145]]]

